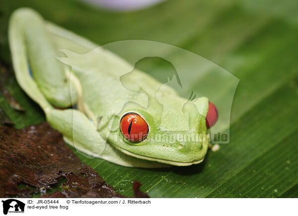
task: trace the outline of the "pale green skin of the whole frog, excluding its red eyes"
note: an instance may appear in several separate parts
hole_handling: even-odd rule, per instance
[[[9,44],[19,85],[40,105],[47,122],[79,152],[146,168],[204,160],[209,140],[190,142],[181,137],[207,134],[208,98],[179,97],[115,54],[43,20],[29,8],[11,15]],[[67,58],[58,57],[63,53]],[[69,108],[73,104],[77,109]],[[146,140],[130,142],[121,134],[120,119],[129,112],[147,122]],[[175,139],[151,139],[158,135]]]

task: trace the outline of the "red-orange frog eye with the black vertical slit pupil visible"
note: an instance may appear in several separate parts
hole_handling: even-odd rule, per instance
[[[127,113],[120,121],[120,130],[123,136],[131,142],[141,142],[148,135],[148,124],[136,113]]]

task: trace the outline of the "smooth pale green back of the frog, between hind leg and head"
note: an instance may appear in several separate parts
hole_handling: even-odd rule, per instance
[[[162,83],[101,47],[86,54],[64,52],[68,57],[59,59],[72,67],[79,79],[85,106],[94,114],[95,120],[110,119],[127,102],[146,108],[157,92],[177,96],[171,87],[160,88]]]

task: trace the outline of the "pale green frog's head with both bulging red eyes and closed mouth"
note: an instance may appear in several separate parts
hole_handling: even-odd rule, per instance
[[[131,104],[114,118],[108,141],[141,159],[177,166],[202,162],[209,144],[207,130],[218,118],[216,107],[206,97],[187,101],[165,94],[156,98],[162,101],[162,115],[156,104],[146,109]]]

